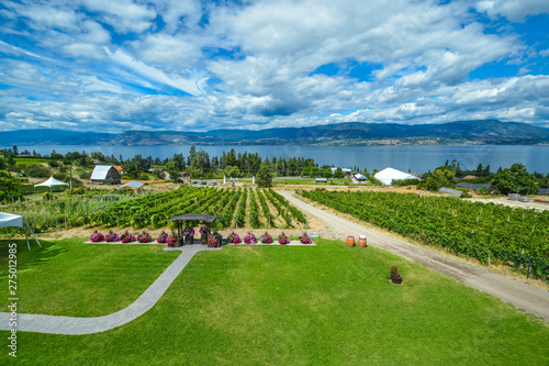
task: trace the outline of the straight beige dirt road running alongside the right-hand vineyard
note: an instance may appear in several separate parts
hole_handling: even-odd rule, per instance
[[[293,206],[317,218],[326,228],[326,236],[344,240],[347,235],[363,235],[368,244],[392,252],[437,270],[474,289],[484,291],[516,308],[549,321],[549,291],[512,278],[493,274],[482,267],[439,255],[428,248],[385,235],[363,225],[341,219],[335,214],[305,203],[293,196],[293,191],[279,191]],[[321,232],[322,233],[322,232]],[[323,233],[324,234],[324,233]]]

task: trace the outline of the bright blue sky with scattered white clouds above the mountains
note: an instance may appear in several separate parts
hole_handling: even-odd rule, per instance
[[[549,127],[549,1],[2,0],[0,131]]]

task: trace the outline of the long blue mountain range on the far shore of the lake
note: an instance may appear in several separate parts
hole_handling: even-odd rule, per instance
[[[349,122],[309,127],[208,132],[126,131],[119,134],[63,130],[0,133],[0,145],[537,145],[549,130],[519,122],[458,121],[444,124]]]

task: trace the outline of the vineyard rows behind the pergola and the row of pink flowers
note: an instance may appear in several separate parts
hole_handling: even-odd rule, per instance
[[[55,200],[13,201],[7,212],[18,213],[38,232],[52,228],[119,226],[158,229],[175,215],[208,213],[217,217],[215,225],[225,228],[302,228],[306,220],[272,189],[187,187],[127,196],[65,196]],[[270,212],[270,208],[278,214]]]

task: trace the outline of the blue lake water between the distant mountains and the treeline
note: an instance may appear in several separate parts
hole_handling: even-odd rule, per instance
[[[11,146],[4,146],[8,148]],[[42,155],[48,155],[54,149],[59,154],[68,152],[101,152],[104,155],[114,155],[116,158],[122,155],[124,159],[137,154],[143,157],[152,156],[164,159],[173,154],[189,154],[189,145],[177,146],[18,146],[19,151],[25,148],[32,152],[35,149]],[[333,165],[339,167],[354,166],[368,171],[392,167],[399,170],[426,173],[444,165],[446,160],[450,163],[456,159],[462,169],[475,169],[479,164],[485,166],[490,164],[491,170],[498,167],[508,168],[514,163],[523,163],[529,171],[538,171],[544,175],[549,173],[549,145],[467,145],[467,146],[200,146],[210,157],[221,157],[223,152],[234,148],[238,153],[258,153],[261,158],[269,157],[299,157],[313,158],[320,166]]]

